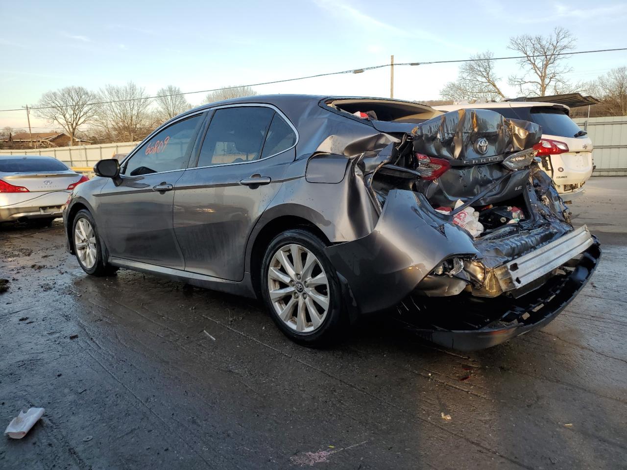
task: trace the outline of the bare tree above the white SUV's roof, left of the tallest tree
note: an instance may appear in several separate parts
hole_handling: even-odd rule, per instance
[[[485,51],[470,56],[470,61],[460,65],[456,81],[446,83],[440,90],[441,97],[447,100],[489,100],[505,98],[498,86],[492,53]]]

